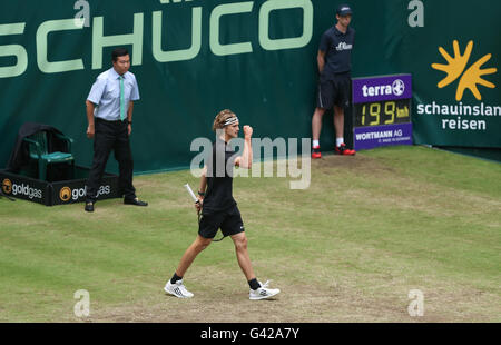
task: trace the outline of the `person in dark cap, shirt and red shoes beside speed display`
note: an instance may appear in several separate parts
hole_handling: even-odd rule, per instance
[[[353,156],[355,150],[344,144],[344,108],[350,106],[352,49],[355,30],[350,28],[352,9],[342,4],[336,10],[337,23],[324,32],[321,39],[317,63],[320,72],[316,109],[312,119],[312,158],[321,158],[320,134],[325,110],[334,107],[334,127],[336,134],[335,151],[338,155]]]

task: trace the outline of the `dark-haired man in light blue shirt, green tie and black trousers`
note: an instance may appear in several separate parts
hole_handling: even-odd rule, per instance
[[[132,152],[129,136],[132,131],[134,101],[139,99],[136,77],[129,72],[130,57],[125,48],[111,53],[112,67],[100,73],[87,97],[87,137],[94,138],[92,167],[87,180],[86,211],[94,211],[98,190],[111,150],[118,161],[119,188],[124,204],[147,206],[136,196],[132,186]]]

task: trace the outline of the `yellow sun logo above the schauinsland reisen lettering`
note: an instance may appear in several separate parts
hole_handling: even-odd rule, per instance
[[[451,57],[445,49],[442,47],[439,47],[439,51],[442,55],[442,57],[449,62],[448,65],[442,63],[432,63],[432,68],[443,71],[446,73],[446,77],[443,78],[441,81],[439,81],[438,87],[439,89],[446,87],[454,80],[456,80],[461,73],[463,73],[464,68],[466,67],[466,63],[470,59],[471,51],[473,50],[473,41],[469,41],[466,45],[466,49],[464,50],[464,53],[461,55],[460,47],[458,40],[454,40],[452,42],[453,49],[454,49],[454,57]],[[487,81],[482,79],[481,77],[484,75],[492,75],[498,71],[497,68],[487,68],[487,69],[480,69],[482,65],[484,65],[489,59],[492,57],[491,53],[488,53],[483,56],[481,59],[479,59],[475,63],[470,66],[469,69],[463,73],[461,77],[458,89],[455,91],[455,100],[460,101],[463,98],[463,93],[465,89],[469,89],[473,96],[477,98],[477,100],[482,99],[482,95],[480,95],[479,89],[477,88],[477,85],[482,85],[488,88],[495,88],[495,85],[493,85],[490,81]]]

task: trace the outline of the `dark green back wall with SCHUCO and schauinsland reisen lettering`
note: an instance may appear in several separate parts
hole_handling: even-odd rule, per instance
[[[131,137],[137,172],[189,166],[190,142],[214,138],[214,116],[225,108],[257,137],[311,137],[318,41],[341,2],[2,1],[0,166],[27,121],[72,137],[77,164],[90,165],[85,100],[117,46],[130,51],[141,96]],[[498,1],[351,6],[353,77],[413,75],[415,142],[501,147]],[[326,116],[321,144],[333,142]]]

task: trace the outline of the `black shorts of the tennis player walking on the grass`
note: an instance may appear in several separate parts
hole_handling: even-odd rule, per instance
[[[204,238],[214,238],[219,228],[225,237],[245,230],[240,211],[236,205],[223,211],[202,215],[200,224],[198,225],[198,235]]]

